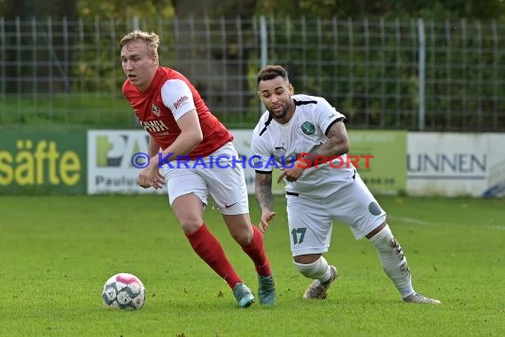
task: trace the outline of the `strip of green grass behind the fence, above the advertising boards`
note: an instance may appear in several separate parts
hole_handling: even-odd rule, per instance
[[[119,89],[112,93],[0,97],[0,129],[132,129],[137,126],[135,114]],[[251,104],[241,114],[227,111],[214,111],[213,114],[229,129],[253,129],[262,113],[257,108]]]

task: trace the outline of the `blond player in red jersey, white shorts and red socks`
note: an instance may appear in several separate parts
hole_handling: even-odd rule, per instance
[[[139,172],[137,183],[155,189],[167,184],[170,205],[191,247],[228,283],[238,307],[247,308],[254,302],[251,290],[204,223],[210,195],[229,233],[253,260],[260,303],[273,304],[274,278],[262,233],[251,224],[244,170],[232,162],[237,158],[233,136],[183,74],[159,66],[158,47],[159,36],[152,32],[135,30],[120,40],[122,68],[128,77],[122,92],[150,135],[151,161]],[[181,156],[187,165],[178,165]],[[220,165],[212,162],[217,157]]]

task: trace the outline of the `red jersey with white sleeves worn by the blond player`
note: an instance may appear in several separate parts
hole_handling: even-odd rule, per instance
[[[158,67],[149,88],[138,90],[127,79],[122,87],[125,98],[134,108],[141,126],[153,137],[162,149],[174,143],[181,134],[177,120],[197,110],[203,140],[190,153],[190,160],[206,157],[222,145],[233,140],[228,129],[221,124],[190,81],[167,67]]]

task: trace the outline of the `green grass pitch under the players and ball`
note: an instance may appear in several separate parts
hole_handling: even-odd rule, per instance
[[[265,236],[277,303],[239,310],[229,287],[193,253],[165,196],[0,198],[2,336],[501,336],[505,334],[505,200],[381,197],[416,290],[442,305],[406,304],[375,249],[334,226],[325,255],[340,278],[326,301],[291,263],[284,199]],[[258,220],[252,200],[253,221]],[[206,222],[255,290],[253,264],[219,214]],[[138,311],[102,308],[107,278],[146,286]]]

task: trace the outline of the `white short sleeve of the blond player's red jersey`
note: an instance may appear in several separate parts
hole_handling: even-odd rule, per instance
[[[167,80],[163,84],[161,99],[163,99],[163,104],[174,114],[175,121],[183,117],[183,114],[196,109],[190,87],[179,79]]]

